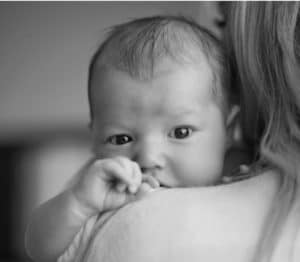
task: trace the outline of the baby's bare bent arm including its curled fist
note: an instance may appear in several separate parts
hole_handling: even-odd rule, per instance
[[[133,199],[141,185],[138,165],[126,158],[97,160],[70,188],[40,206],[26,234],[35,261],[55,261],[86,221]]]

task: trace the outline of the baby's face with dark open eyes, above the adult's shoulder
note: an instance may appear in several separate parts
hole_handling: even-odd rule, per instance
[[[226,127],[208,65],[165,61],[151,80],[117,70],[92,79],[98,158],[125,156],[166,187],[205,186],[221,176]]]

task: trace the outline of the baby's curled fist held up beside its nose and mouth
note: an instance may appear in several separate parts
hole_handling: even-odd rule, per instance
[[[136,162],[125,157],[96,160],[71,188],[86,216],[119,208],[134,199],[142,183]]]

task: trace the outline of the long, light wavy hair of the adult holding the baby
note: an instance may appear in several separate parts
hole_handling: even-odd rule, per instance
[[[270,261],[300,205],[299,2],[238,2],[227,10],[244,136],[257,146],[258,162],[282,174],[254,260]]]

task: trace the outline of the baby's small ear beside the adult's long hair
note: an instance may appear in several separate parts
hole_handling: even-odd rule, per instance
[[[241,142],[242,134],[239,121],[240,107],[233,105],[226,117],[226,128],[227,128],[227,146],[233,146]]]

